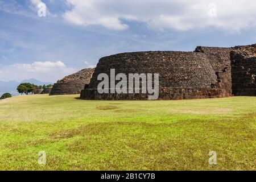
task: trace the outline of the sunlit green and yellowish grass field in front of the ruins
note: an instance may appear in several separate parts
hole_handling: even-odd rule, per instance
[[[0,101],[1,170],[255,170],[256,97]],[[46,165],[38,152],[46,151]],[[217,152],[210,165],[209,152]]]

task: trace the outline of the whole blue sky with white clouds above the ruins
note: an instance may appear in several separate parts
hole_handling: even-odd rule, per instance
[[[255,10],[253,0],[0,0],[0,81],[56,82],[120,52],[253,44]]]

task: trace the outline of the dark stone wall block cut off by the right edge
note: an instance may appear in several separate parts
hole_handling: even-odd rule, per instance
[[[256,96],[256,44],[234,47],[230,55],[234,96]]]

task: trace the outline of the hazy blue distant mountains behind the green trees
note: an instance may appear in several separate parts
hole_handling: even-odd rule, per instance
[[[31,84],[35,84],[35,85],[49,85],[52,84],[51,82],[42,82],[39,80],[36,80],[35,78],[31,78],[28,80],[23,80],[22,82],[18,82],[18,81],[0,81],[0,97],[2,96],[3,93],[9,92],[13,95],[18,95],[17,92],[17,86],[20,83],[31,83]]]

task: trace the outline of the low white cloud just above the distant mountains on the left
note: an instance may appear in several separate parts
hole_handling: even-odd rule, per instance
[[[36,78],[40,81],[56,82],[64,76],[75,73],[76,68],[67,67],[61,61],[35,61],[31,64],[12,64],[0,67],[0,80],[22,81],[24,79]]]

